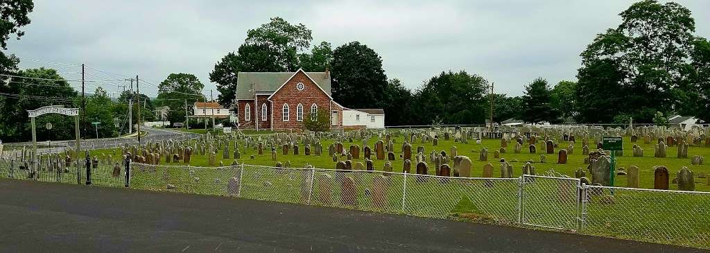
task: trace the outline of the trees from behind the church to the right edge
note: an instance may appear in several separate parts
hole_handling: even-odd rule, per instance
[[[577,81],[555,85],[537,77],[522,96],[488,94],[491,80],[465,70],[445,70],[415,90],[388,78],[382,58],[358,41],[332,50],[311,47],[312,31],[283,18],[247,32],[209,75],[219,102],[233,104],[237,73],[330,70],[332,95],[345,107],[383,108],[386,125],[524,122],[650,123],[656,114],[684,114],[710,121],[710,43],[695,36],[691,11],[674,2],[639,1],[615,28],[600,33],[581,52]],[[542,73],[541,73],[542,74]]]

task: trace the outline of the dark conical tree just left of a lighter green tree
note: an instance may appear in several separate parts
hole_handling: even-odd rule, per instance
[[[525,86],[522,119],[528,123],[556,122],[557,112],[552,107],[552,90],[547,80],[538,77]]]

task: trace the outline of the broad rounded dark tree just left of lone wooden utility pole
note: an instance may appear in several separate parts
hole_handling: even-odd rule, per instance
[[[409,117],[415,117],[418,124],[432,124],[435,119],[444,124],[483,124],[486,90],[488,81],[479,75],[464,70],[442,72],[415,92],[414,112]]]

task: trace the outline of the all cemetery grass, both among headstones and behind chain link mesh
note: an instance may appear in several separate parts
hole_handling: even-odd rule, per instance
[[[400,158],[401,144],[403,137],[395,138],[395,161],[392,161],[395,172],[402,171],[403,161]],[[323,140],[324,155],[305,156],[304,147],[300,145],[300,155],[293,155],[293,151],[288,155],[283,155],[281,148],[277,147],[278,161],[285,163],[290,161],[291,167],[303,168],[307,164],[315,168],[334,168],[335,163],[332,157],[327,156],[327,146],[332,144],[332,140]],[[376,139],[367,141],[373,146]],[[353,144],[362,144],[361,140],[354,141]],[[569,155],[567,164],[557,164],[557,150],[555,154],[547,156],[547,163],[540,163],[541,151],[538,142],[537,154],[528,154],[527,146],[523,147],[520,154],[513,153],[513,144],[508,144],[508,153],[501,154],[502,158],[513,164],[514,176],[520,176],[522,166],[528,159],[535,161],[535,171],[538,175],[545,174],[545,171],[553,169],[557,173],[574,177],[577,168],[586,168],[584,157],[581,155],[581,141],[575,146],[572,155]],[[687,166],[694,171],[696,176],[696,190],[710,191],[706,178],[699,178],[699,174],[710,174],[710,167],[707,165],[692,166],[690,158],[675,158],[677,147],[667,149],[667,158],[653,157],[653,144],[636,143],[644,149],[643,157],[633,157],[633,151],[629,138],[624,138],[624,155],[617,156],[617,167],[638,166],[640,173],[641,188],[652,188],[653,186],[653,166],[666,166],[670,171],[670,178],[674,178],[675,173],[682,166]],[[350,146],[344,143],[344,149]],[[230,146],[234,146],[230,144]],[[274,166],[275,161],[271,161],[271,152],[265,149],[263,155],[258,155],[256,147],[245,149],[240,143],[241,158],[240,163],[257,166]],[[481,145],[475,141],[469,144],[461,144],[454,141],[440,140],[437,146],[431,142],[421,144],[419,141],[413,144],[413,151],[417,146],[425,147],[425,156],[428,157],[430,151],[447,151],[457,146],[458,154],[469,156],[473,161],[471,174],[480,177],[483,166],[490,162],[495,168],[493,176],[500,176],[500,165],[498,159],[493,158],[493,150],[500,149],[501,141],[498,139],[484,139]],[[560,146],[567,146],[560,144]],[[488,148],[488,161],[478,161],[479,149]],[[231,153],[231,152],[230,152]],[[114,154],[118,157],[120,149],[103,149],[92,151],[92,155]],[[364,151],[361,149],[361,156]],[[255,156],[251,159],[249,156]],[[710,148],[704,146],[690,146],[688,156],[694,155],[710,156]],[[230,154],[231,156],[231,154]],[[373,158],[376,155],[373,153]],[[343,160],[344,157],[339,157]],[[427,158],[428,159],[428,158]],[[225,166],[231,164],[234,159],[223,159],[222,152],[217,153],[217,163],[223,161]],[[363,162],[364,159],[354,159],[353,163]],[[376,170],[381,171],[386,161],[373,160]],[[188,168],[183,163],[165,164],[164,158],[161,165],[148,167],[141,170],[141,166],[136,165],[133,171],[132,188],[142,188],[148,190],[168,190],[185,193],[198,193],[208,195],[226,195],[226,186],[229,178],[235,177],[237,171],[234,168]],[[430,163],[431,165],[431,163]],[[193,152],[190,166],[208,166],[208,156],[201,156]],[[153,171],[154,169],[154,171]],[[413,165],[414,169],[414,165]],[[338,208],[354,208],[359,210],[376,210],[379,212],[405,213],[424,217],[444,217],[464,220],[476,220],[479,222],[491,222],[496,224],[515,224],[518,222],[518,181],[517,179],[499,179],[496,181],[485,179],[451,179],[441,181],[440,178],[426,178],[419,180],[416,176],[403,178],[402,175],[388,177],[388,190],[386,200],[383,203],[375,203],[373,200],[373,190],[376,189],[374,181],[381,172],[364,173],[336,173],[334,171],[317,171],[314,177],[311,200],[307,200],[304,194],[305,185],[310,179],[308,171],[297,170],[276,170],[273,168],[258,168],[247,166],[242,171],[241,198],[251,198],[258,200],[271,200],[288,203],[309,203],[310,205],[334,206]],[[430,174],[434,169],[430,168]],[[342,204],[342,188],[340,183],[335,183],[329,200],[324,200],[319,190],[323,179],[322,174],[329,174],[337,182],[342,182],[344,176],[350,176],[355,181],[356,205]],[[591,177],[589,173],[588,177]],[[199,178],[197,180],[196,178]],[[550,225],[554,227],[564,227],[569,230],[577,229],[577,217],[579,214],[577,203],[577,189],[574,181],[554,181],[545,178],[535,178],[535,181],[525,183],[523,196],[524,211],[521,212],[523,223],[535,225]],[[71,180],[70,180],[71,181]],[[120,180],[116,180],[120,183]],[[406,193],[403,191],[405,181],[407,182]],[[175,188],[168,189],[166,185],[170,183]],[[120,184],[119,184],[120,185]],[[320,186],[319,186],[320,185]],[[617,176],[616,186],[626,187],[626,177]],[[677,189],[677,185],[671,184],[671,189]],[[310,190],[310,189],[309,189]],[[692,247],[710,249],[710,215],[707,207],[710,206],[710,195],[708,194],[679,194],[679,193],[659,193],[644,192],[639,190],[616,190],[613,198],[610,190],[601,189],[601,194],[590,194],[590,202],[586,204],[586,222],[581,230],[584,234],[603,235],[621,237],[626,239],[637,239],[648,242],[661,242],[667,244],[678,244]],[[404,198],[403,198],[404,195]],[[403,203],[404,199],[404,203]]]

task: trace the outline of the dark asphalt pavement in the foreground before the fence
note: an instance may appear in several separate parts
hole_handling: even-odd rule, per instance
[[[701,252],[307,205],[0,179],[0,252]]]

